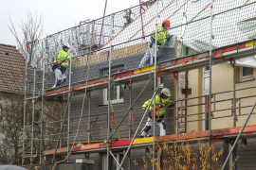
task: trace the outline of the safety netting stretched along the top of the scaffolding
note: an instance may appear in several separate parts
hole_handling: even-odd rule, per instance
[[[70,55],[77,57],[72,61],[72,83],[87,78],[88,58],[90,65],[88,79],[108,75],[110,45],[111,74],[135,70],[144,57],[151,34],[155,30],[156,15],[159,24],[166,19],[171,21],[168,32],[173,35],[169,43],[158,47],[157,62],[209,51],[210,2],[210,0],[161,0],[157,4],[156,1],[148,1],[141,6],[105,16],[103,24],[101,18],[65,29],[43,40],[29,43],[28,54],[31,59],[29,65],[43,70],[43,59],[46,59],[46,74],[54,76],[51,70],[52,63],[64,42],[68,42],[72,51]],[[255,39],[255,2],[255,0],[213,1],[213,49]],[[89,54],[90,49],[91,54]],[[152,63],[148,60],[147,64]],[[46,88],[50,88],[54,84],[54,78],[46,79],[46,84],[48,84]]]

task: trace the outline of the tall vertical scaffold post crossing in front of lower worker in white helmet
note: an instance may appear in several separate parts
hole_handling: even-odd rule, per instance
[[[156,11],[155,11],[155,76],[154,76],[154,91],[156,92],[156,55],[157,55],[157,29],[158,29],[158,6],[159,0],[156,0]],[[154,115],[153,115],[153,167],[152,169],[155,170],[155,98],[154,98]]]

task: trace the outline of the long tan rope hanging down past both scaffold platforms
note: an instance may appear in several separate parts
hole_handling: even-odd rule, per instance
[[[92,35],[91,35],[90,44],[92,44],[92,40],[93,40],[93,31],[94,31],[94,21],[92,22]],[[87,77],[86,77],[86,83],[85,83],[85,92],[84,92],[83,99],[82,99],[82,110],[81,110],[81,114],[80,114],[80,119],[79,119],[79,123],[78,123],[78,127],[77,127],[76,136],[75,136],[74,142],[73,142],[73,144],[72,144],[72,146],[71,146],[71,149],[70,149],[68,155],[65,157],[64,160],[55,162],[55,164],[54,164],[52,170],[55,169],[57,163],[66,161],[66,159],[67,159],[67,158],[69,157],[69,155],[71,154],[72,149],[73,149],[73,147],[74,147],[74,145],[75,145],[75,143],[76,143],[77,137],[78,137],[80,124],[81,124],[81,121],[82,121],[82,113],[83,113],[83,108],[84,108],[84,102],[85,102],[85,98],[86,98],[86,96],[87,96],[87,84],[88,84],[88,77],[89,77],[89,72],[90,72],[90,65],[88,64],[88,59],[89,59],[90,56],[91,56],[91,52],[92,52],[92,45],[90,45],[89,57],[86,59],[86,64],[88,65],[88,67],[87,67]],[[69,148],[69,146],[68,146],[68,148]]]

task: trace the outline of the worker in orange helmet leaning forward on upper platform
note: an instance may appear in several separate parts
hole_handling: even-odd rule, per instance
[[[163,45],[166,42],[169,42],[172,36],[169,35],[167,29],[171,27],[169,20],[164,20],[162,24],[157,25],[157,45]],[[150,64],[154,63],[155,58],[155,30],[151,35],[151,39],[148,44],[147,51],[144,57],[141,59],[138,67],[143,67],[148,59],[150,59]]]

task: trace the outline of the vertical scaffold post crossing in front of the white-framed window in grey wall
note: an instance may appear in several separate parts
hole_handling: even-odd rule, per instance
[[[109,45],[109,57],[108,57],[108,92],[107,98],[110,98],[110,91],[111,91],[111,51],[112,51],[112,38],[113,38],[113,23],[114,23],[114,15],[111,14],[111,28],[110,28],[110,45]],[[109,144],[110,144],[110,132],[109,132],[109,119],[110,119],[110,102],[108,102],[108,114],[107,114],[107,169],[109,167]]]

